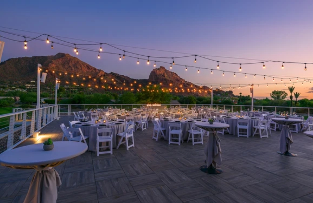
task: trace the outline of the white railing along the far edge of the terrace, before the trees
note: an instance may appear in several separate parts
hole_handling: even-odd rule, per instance
[[[73,111],[85,111],[85,109],[90,108],[106,108],[106,107],[113,107],[113,108],[121,108],[126,110],[131,110],[133,108],[139,108],[141,106],[146,106],[146,104],[59,104],[59,116],[70,116],[73,115]],[[167,108],[179,106],[179,107],[186,107],[186,108],[192,108],[192,107],[213,107],[213,108],[219,108],[222,110],[229,110],[231,112],[236,111],[246,111],[248,109],[251,109],[250,105],[223,105],[223,104],[161,104],[162,107],[166,106]],[[153,106],[154,108],[158,108],[158,106]],[[162,107],[159,107],[160,109],[163,109]],[[260,109],[260,111],[275,111],[275,112],[283,112],[283,111],[289,111],[289,112],[296,112],[297,114],[300,114],[304,117],[308,117],[313,114],[313,108],[310,107],[290,107],[290,106],[254,106],[255,110]]]

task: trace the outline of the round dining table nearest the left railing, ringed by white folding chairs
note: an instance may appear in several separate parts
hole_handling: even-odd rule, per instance
[[[75,123],[76,128],[80,128],[84,136],[89,136],[88,150],[96,151],[97,145],[97,129],[98,128],[113,128],[112,145],[116,148],[121,137],[117,136],[118,133],[122,133],[126,129],[126,122],[120,121],[106,121],[105,123],[93,123],[93,122],[80,122]]]

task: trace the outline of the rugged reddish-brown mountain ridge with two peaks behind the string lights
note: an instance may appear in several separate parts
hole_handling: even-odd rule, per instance
[[[46,83],[50,87],[54,85],[55,78],[61,81],[64,87],[88,87],[95,92],[104,90],[121,91],[121,89],[138,91],[142,87],[149,85],[160,85],[177,95],[209,95],[209,88],[200,87],[179,77],[175,72],[171,72],[164,67],[155,68],[151,71],[148,79],[133,79],[114,72],[104,72],[89,64],[72,57],[69,54],[58,53],[55,56],[35,56],[11,58],[0,63],[0,82],[2,84],[36,86],[37,64],[42,65],[42,72],[47,73]],[[161,85],[162,84],[162,85]],[[195,91],[194,91],[195,90]],[[188,92],[189,91],[189,92]],[[233,97],[233,92],[213,90],[214,94],[226,94]]]

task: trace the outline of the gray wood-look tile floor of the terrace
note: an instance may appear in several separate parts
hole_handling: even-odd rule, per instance
[[[61,117],[20,146],[62,138]],[[280,131],[269,138],[220,135],[224,172],[205,174],[204,145],[168,145],[152,140],[152,125],[135,132],[135,147],[122,146],[113,155],[94,152],[56,167],[62,185],[58,202],[313,202],[313,140],[293,133],[291,152],[279,150]],[[206,137],[205,137],[206,141]],[[34,170],[0,166],[0,202],[23,202]]]

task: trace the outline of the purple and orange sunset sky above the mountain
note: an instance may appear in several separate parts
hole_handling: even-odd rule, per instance
[[[211,0],[211,1],[36,1],[32,0],[1,2],[0,31],[14,32],[21,35],[37,37],[36,33],[49,34],[72,43],[89,43],[92,41],[109,43],[116,47],[145,56],[179,57],[188,53],[191,55],[207,55],[215,61],[247,63],[266,60],[284,62],[313,62],[313,1],[311,0]],[[18,30],[12,30],[8,28]],[[36,33],[30,33],[30,32]],[[0,32],[1,36],[24,40]],[[46,38],[43,36],[42,39]],[[69,39],[72,38],[72,39]],[[80,50],[76,55],[72,47],[64,47],[41,41],[28,42],[28,49],[23,48],[23,42],[13,42],[1,38],[5,42],[1,61],[16,57],[32,57],[55,55],[59,52],[69,53],[88,64],[105,72],[116,72],[135,79],[148,78],[153,63],[145,60],[126,57],[119,61],[119,55],[100,54]],[[50,41],[53,41],[50,38]],[[136,47],[136,48],[135,48]],[[99,50],[99,45],[90,46]],[[123,54],[107,45],[102,46],[105,52]],[[152,50],[153,49],[153,50]],[[154,51],[163,50],[163,51]],[[181,52],[181,53],[174,53]],[[209,57],[210,56],[210,57]],[[144,57],[145,58],[145,57]],[[235,59],[241,58],[241,59]],[[254,60],[246,60],[254,59]],[[158,59],[160,60],[160,59]],[[160,61],[172,62],[172,59]],[[239,65],[219,63],[203,58],[177,58],[176,64],[205,67],[209,70],[173,66],[183,79],[202,85],[229,87],[233,84],[234,94],[249,95],[249,88],[233,89],[234,86],[254,84],[254,96],[269,97],[273,90],[288,92],[286,84],[289,79],[273,79],[275,77],[305,77],[313,80],[313,64],[284,64],[280,62],[242,65],[242,72],[260,74],[262,76],[239,74]],[[164,66],[170,70],[170,65],[157,62],[157,67]],[[34,67],[36,68],[36,67]],[[211,74],[211,69],[213,74]],[[236,72],[236,77],[234,77]],[[300,80],[299,81],[303,81]],[[291,82],[296,82],[292,79]],[[268,84],[267,85],[265,84]],[[277,85],[275,84],[277,83]],[[237,84],[237,85],[236,85]],[[259,87],[257,87],[259,84]],[[295,92],[300,92],[301,98],[313,98],[313,83],[294,83]],[[289,92],[288,92],[289,94]]]

